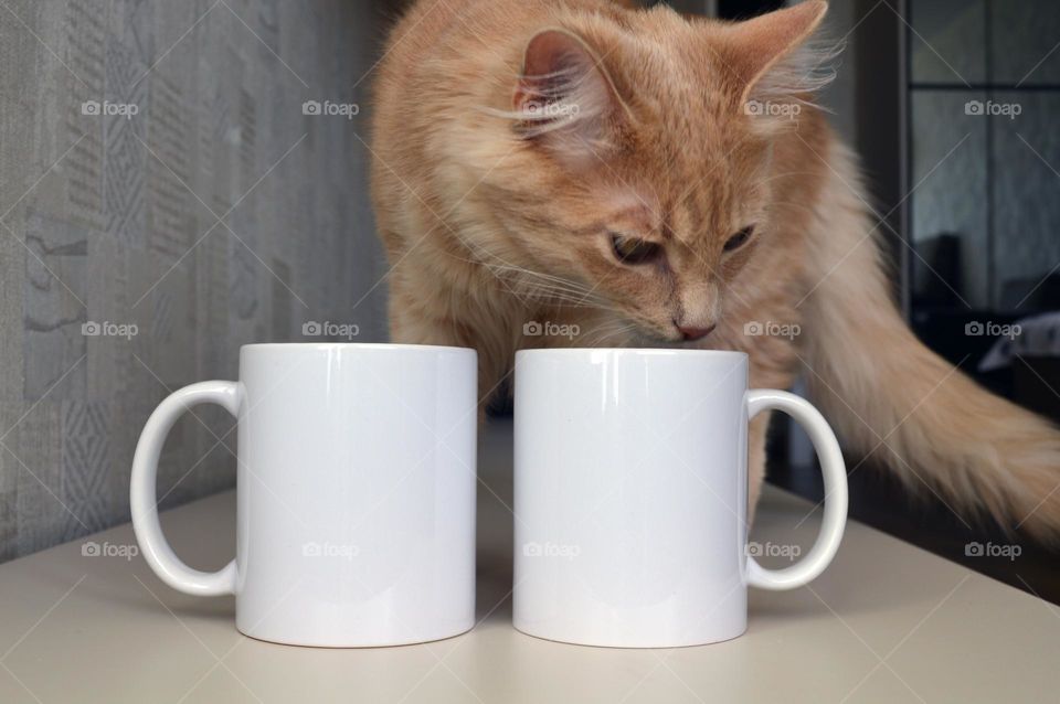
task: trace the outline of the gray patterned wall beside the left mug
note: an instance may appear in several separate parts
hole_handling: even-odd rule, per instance
[[[234,378],[241,344],[383,338],[359,138],[380,4],[0,6],[0,559],[128,520],[148,414]],[[195,416],[163,508],[234,483],[232,420]]]

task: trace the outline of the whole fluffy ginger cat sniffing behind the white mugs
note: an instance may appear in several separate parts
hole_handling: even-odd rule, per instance
[[[521,348],[741,350],[753,386],[804,372],[909,487],[1057,538],[1060,431],[891,299],[856,158],[813,102],[827,4],[736,23],[623,4],[418,0],[395,25],[371,143],[392,340],[475,348],[486,396]]]

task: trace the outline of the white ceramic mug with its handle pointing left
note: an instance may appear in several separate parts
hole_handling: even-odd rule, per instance
[[[402,344],[251,344],[239,382],[166,398],[132,463],[132,525],[169,586],[234,594],[240,631],[298,646],[423,642],[475,616],[477,355]],[[239,418],[235,559],[184,565],[162,535],[156,472],[197,404]]]

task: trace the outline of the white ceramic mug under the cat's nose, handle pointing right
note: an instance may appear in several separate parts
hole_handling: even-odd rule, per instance
[[[748,391],[748,356],[701,350],[528,350],[516,358],[515,626],[572,643],[679,647],[746,629],[748,586],[825,569],[847,513],[825,419],[782,391]],[[827,500],[798,563],[748,552],[748,422],[792,415]]]

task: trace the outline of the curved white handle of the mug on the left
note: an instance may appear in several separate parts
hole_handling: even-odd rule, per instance
[[[132,478],[129,504],[132,511],[132,532],[144,552],[147,564],[159,578],[178,591],[198,596],[235,594],[235,561],[218,572],[192,569],[173,552],[158,521],[155,479],[162,444],[173,424],[186,410],[204,403],[223,406],[239,418],[240,385],[236,382],[201,382],[173,392],[158,405],[147,419],[132,456]]]

